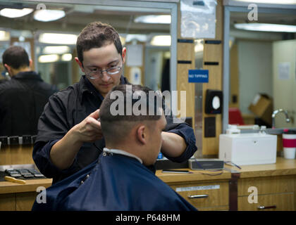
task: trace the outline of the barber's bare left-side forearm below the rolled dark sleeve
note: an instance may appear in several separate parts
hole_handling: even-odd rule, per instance
[[[73,164],[75,156],[77,155],[83,142],[78,140],[75,136],[75,131],[70,129],[68,133],[63,136],[63,139],[56,142],[50,151],[51,162],[54,163],[58,169],[68,169]]]

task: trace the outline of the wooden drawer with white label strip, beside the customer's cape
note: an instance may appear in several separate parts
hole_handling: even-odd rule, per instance
[[[228,182],[171,185],[179,195],[198,210],[203,207],[228,207]]]

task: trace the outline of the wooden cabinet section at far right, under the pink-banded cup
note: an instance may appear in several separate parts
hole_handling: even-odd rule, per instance
[[[238,210],[295,211],[296,160],[278,157],[275,164],[242,166]]]

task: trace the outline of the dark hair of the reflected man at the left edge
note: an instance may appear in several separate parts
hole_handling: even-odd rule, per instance
[[[19,69],[30,66],[29,56],[23,47],[10,46],[2,55],[2,63],[11,66],[13,69]]]

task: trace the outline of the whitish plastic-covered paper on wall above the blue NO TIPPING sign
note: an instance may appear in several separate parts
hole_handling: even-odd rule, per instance
[[[215,38],[216,0],[181,0],[181,37]]]

